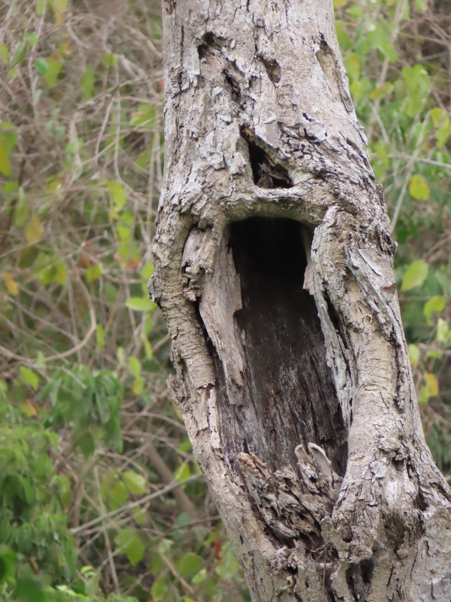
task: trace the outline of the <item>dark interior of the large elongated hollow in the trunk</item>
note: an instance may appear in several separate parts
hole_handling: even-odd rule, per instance
[[[342,475],[346,430],[316,305],[302,288],[307,265],[302,228],[294,220],[260,217],[230,228],[241,280],[242,309],[235,320],[244,340],[245,373],[234,405],[215,356],[222,450],[231,459],[251,451],[277,470],[296,468],[296,445],[314,442]]]

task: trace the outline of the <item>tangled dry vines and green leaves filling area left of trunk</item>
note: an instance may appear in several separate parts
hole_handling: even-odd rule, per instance
[[[147,299],[159,4],[14,0],[0,32],[0,598],[248,600]]]

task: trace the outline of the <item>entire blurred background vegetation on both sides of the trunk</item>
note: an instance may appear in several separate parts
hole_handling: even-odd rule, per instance
[[[335,0],[451,478],[448,0]],[[249,600],[147,300],[163,169],[156,0],[0,6],[0,599]]]

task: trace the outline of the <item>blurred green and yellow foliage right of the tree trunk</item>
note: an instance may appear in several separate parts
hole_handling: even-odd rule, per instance
[[[351,94],[400,243],[399,300],[426,437],[451,476],[449,2],[334,4]]]

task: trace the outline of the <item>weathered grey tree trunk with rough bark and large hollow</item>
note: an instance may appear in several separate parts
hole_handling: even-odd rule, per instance
[[[449,601],[382,191],[331,0],[165,0],[150,284],[254,601]]]

